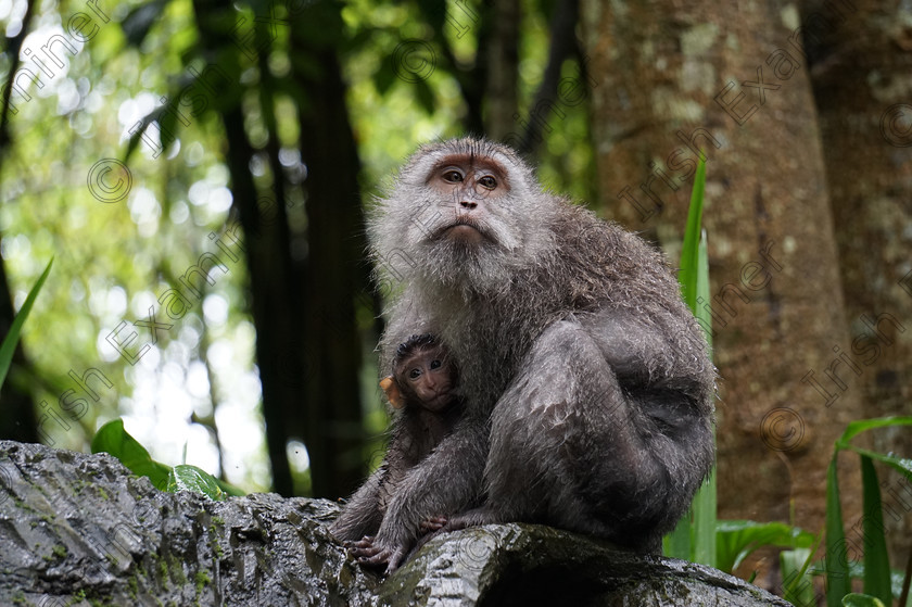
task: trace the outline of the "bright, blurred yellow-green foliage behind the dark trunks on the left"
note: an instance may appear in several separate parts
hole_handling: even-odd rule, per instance
[[[156,300],[179,284],[200,255],[218,254],[208,235],[221,233],[237,220],[231,168],[225,157],[226,130],[219,119],[230,104],[240,108],[254,150],[249,173],[257,192],[270,198],[276,176],[270,170],[268,147],[275,132],[282,172],[279,178],[287,184],[289,229],[303,231],[306,216],[300,210],[306,192],[301,185],[307,165],[299,149],[297,112],[313,103],[314,94],[290,74],[295,61],[304,71],[324,66],[315,56],[295,56],[290,48],[292,28],[311,39],[327,37],[329,28],[321,28],[318,21],[338,18],[338,25],[332,26],[338,31],[327,45],[338,49],[347,87],[344,101],[363,167],[357,184],[340,184],[341,188],[357,186],[368,200],[381,191],[416,142],[464,131],[467,111],[456,74],[471,72],[477,63],[477,35],[470,30],[457,37],[455,28],[443,27],[436,16],[429,16],[442,13],[425,4],[356,0],[315,8],[306,2],[251,2],[219,5],[200,16],[193,3],[185,0],[98,2],[99,11],[110,17],[103,23],[85,1],[0,3],[5,36],[0,74],[4,84],[13,67],[26,67],[38,73],[43,85],[38,87],[26,77],[16,79],[29,99],[12,89],[11,110],[3,123],[8,135],[0,149],[0,253],[16,309],[47,260],[58,255],[25,327],[24,364],[14,366],[7,389],[27,394],[36,417],[33,428],[22,427],[21,421],[18,427],[5,426],[5,435],[18,433],[34,440],[36,421],[45,412],[39,403],[61,406],[62,394],[79,391],[69,371],[81,377],[94,368],[114,387],[99,388],[98,380],[90,380],[96,382],[90,385],[96,387],[100,400],[89,397],[88,406],[77,404],[68,409],[84,414],[78,420],[66,416],[69,428],[53,416],[43,418],[38,439],[86,451],[103,422],[123,416],[128,430],[162,461],[178,464],[186,457],[244,489],[271,486],[251,314],[256,294],[250,290],[248,266],[240,262],[229,264],[228,273],[213,270],[215,284],[205,284],[201,302],[193,301],[179,320],[163,318]],[[554,7],[527,2],[523,10],[517,84],[521,103],[528,104],[547,61],[548,18]],[[273,31],[266,34],[266,43],[258,43],[252,38],[252,27],[270,11],[276,22],[265,28]],[[324,14],[314,18],[315,12]],[[98,27],[85,43],[67,36],[67,23],[77,13],[92,17],[92,27]],[[217,46],[206,43],[201,22],[203,29],[211,27],[221,35]],[[86,31],[92,27],[87,26]],[[232,33],[231,28],[237,29]],[[389,60],[396,47],[404,39],[433,40],[438,30],[443,31],[441,43],[449,47],[446,52],[452,52],[457,65],[438,60],[427,81],[398,78]],[[15,38],[23,35],[21,51],[34,49],[52,77],[22,54],[13,63]],[[61,35],[76,52],[60,42],[52,45],[54,55],[65,64],[59,68],[38,49]],[[273,36],[275,39],[269,39]],[[434,52],[443,53],[440,48]],[[213,64],[226,75],[227,90],[213,94],[197,87],[192,100],[197,105],[178,105],[177,112],[161,114],[176,99],[191,97],[181,97],[181,89],[194,79],[191,69],[199,74]],[[264,108],[266,103],[268,108]],[[178,113],[189,124],[176,117]],[[157,122],[145,130],[149,142],[131,137],[130,129],[140,121],[152,122],[150,116]],[[565,128],[548,135],[542,150],[542,176],[555,190],[592,200],[586,124],[585,106],[579,106],[568,114]],[[160,139],[163,130],[164,141]],[[164,150],[157,157],[153,155],[155,146]],[[125,200],[101,202],[87,187],[90,168],[103,159],[126,160],[131,187]],[[115,166],[105,179],[115,184],[122,177]],[[303,249],[299,254],[306,255],[306,244]],[[366,281],[358,288],[370,292]],[[319,300],[321,294],[308,296]],[[359,302],[373,303],[372,298]],[[159,330],[159,342],[131,365],[105,338],[124,320],[147,319],[150,306],[157,311],[157,323],[174,326]],[[376,313],[372,305],[357,309],[365,364],[363,369],[353,369],[353,377],[362,383],[359,406],[368,427],[364,435],[373,437],[365,447],[368,455],[382,448],[379,435],[385,426],[370,356],[377,339]],[[151,332],[134,327],[118,336],[134,330],[137,341],[127,350],[137,354],[138,344],[149,343]],[[304,340],[306,337],[300,341]],[[79,392],[65,403],[79,397],[86,403],[87,396]],[[303,437],[288,438],[292,441],[292,470],[297,476],[295,486],[305,492],[309,481]],[[364,455],[359,451],[354,458],[359,464],[347,475],[350,479],[362,473]],[[330,495],[327,490],[321,493]]]

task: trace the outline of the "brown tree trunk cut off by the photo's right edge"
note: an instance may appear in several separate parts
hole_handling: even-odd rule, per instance
[[[821,2],[801,4],[852,338],[839,346],[854,363],[845,388],[825,387],[859,394],[864,417],[912,415],[912,97],[902,84],[912,28],[897,2],[853,3],[844,20]],[[874,441],[883,453],[912,453],[908,430]],[[902,562],[912,495],[898,472],[883,470],[881,480],[891,562]]]

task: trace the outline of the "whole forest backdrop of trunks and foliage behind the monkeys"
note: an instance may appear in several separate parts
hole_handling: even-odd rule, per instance
[[[846,425],[912,415],[908,0],[0,0],[0,338],[54,257],[4,439],[123,417],[163,463],[350,493],[388,419],[365,208],[467,132],[671,261],[705,154],[721,518],[819,532]],[[881,479],[904,561],[912,485]]]

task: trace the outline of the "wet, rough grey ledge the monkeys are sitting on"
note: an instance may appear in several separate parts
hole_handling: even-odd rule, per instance
[[[163,493],[107,454],[0,441],[0,604],[786,607],[721,571],[537,524],[430,540],[387,580],[325,499]]]

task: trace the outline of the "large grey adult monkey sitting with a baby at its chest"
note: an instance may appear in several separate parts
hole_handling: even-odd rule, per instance
[[[511,149],[419,149],[369,223],[402,277],[381,368],[446,343],[463,418],[391,499],[362,561],[394,570],[421,522],[542,522],[659,548],[713,459],[714,370],[662,255],[545,192]]]

